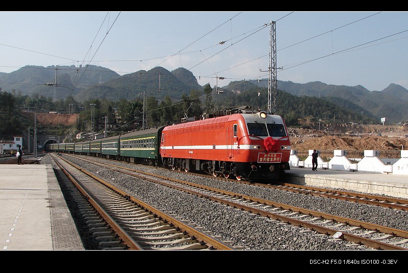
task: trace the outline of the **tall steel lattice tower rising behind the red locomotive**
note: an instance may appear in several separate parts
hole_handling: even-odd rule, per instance
[[[268,114],[276,114],[276,22],[270,22],[269,29],[269,81],[268,81]],[[272,86],[273,84],[273,86]]]

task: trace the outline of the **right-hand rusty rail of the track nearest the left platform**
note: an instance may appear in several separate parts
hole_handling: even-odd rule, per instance
[[[84,172],[85,174],[89,175],[90,177],[98,180],[100,183],[104,184],[105,186],[111,188],[112,190],[116,191],[117,193],[123,195],[124,197],[128,198],[129,200],[139,204],[140,206],[144,207],[145,209],[151,211],[151,213],[157,215],[158,217],[161,217],[163,219],[165,219],[169,224],[179,228],[181,231],[183,232],[187,232],[189,235],[191,235],[192,237],[194,237],[196,240],[201,241],[203,243],[205,243],[210,249],[217,249],[217,250],[235,250],[235,248],[225,244],[224,242],[211,237],[209,235],[207,235],[206,233],[203,233],[201,231],[199,231],[198,229],[191,227],[190,225],[187,225],[186,223],[177,220],[176,218],[168,215],[167,213],[165,213],[164,211],[161,211],[160,209],[155,208],[154,206],[151,206],[149,204],[147,204],[146,202],[135,198],[134,196],[116,188],[115,186],[107,183],[105,180],[93,175],[92,173],[88,172],[87,170],[79,167],[78,165],[66,161],[65,159],[61,158],[62,160],[64,160],[65,162],[67,162],[68,164],[72,165],[73,167],[77,168],[78,170]]]

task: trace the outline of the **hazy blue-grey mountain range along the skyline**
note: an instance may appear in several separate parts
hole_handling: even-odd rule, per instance
[[[57,75],[57,85],[55,85]],[[54,85],[48,84],[54,83]],[[55,87],[57,86],[57,87]],[[173,101],[180,100],[182,95],[190,94],[192,89],[203,90],[195,76],[184,68],[168,71],[156,67],[149,71],[140,70],[134,73],[119,75],[100,66],[25,66],[11,73],[0,73],[0,87],[3,91],[21,92],[23,95],[38,94],[57,99],[68,96],[83,102],[89,99],[106,98],[117,101],[155,97],[162,100],[170,96]],[[224,92],[235,94],[247,90],[258,90],[267,87],[267,80],[234,81],[219,87]],[[338,106],[354,112],[363,112],[378,118],[386,117],[387,122],[405,122],[408,120],[408,90],[391,83],[381,91],[370,91],[362,85],[331,85],[315,81],[294,83],[277,81],[279,90],[302,97],[317,97],[333,102]],[[264,92],[264,91],[263,91]]]

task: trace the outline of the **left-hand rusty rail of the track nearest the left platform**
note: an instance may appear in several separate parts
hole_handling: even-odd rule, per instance
[[[53,157],[53,156],[52,156]],[[143,250],[143,248],[129,235],[123,228],[116,223],[116,221],[101,207],[95,199],[93,199],[87,191],[78,183],[78,181],[71,175],[71,173],[63,167],[54,157],[54,161],[60,167],[60,169],[65,173],[65,175],[72,181],[75,187],[88,199],[91,205],[98,211],[101,217],[108,223],[108,225],[115,231],[119,238],[123,241],[130,250]]]

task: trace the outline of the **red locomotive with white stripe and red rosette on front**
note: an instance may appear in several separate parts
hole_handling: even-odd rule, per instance
[[[283,118],[264,111],[167,126],[160,144],[165,166],[238,180],[281,178],[290,149]]]

